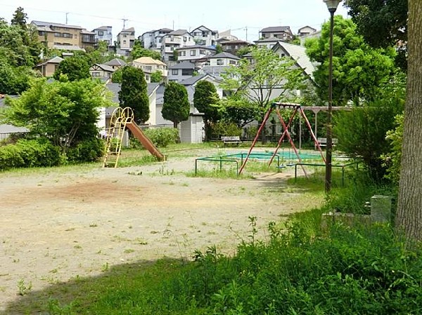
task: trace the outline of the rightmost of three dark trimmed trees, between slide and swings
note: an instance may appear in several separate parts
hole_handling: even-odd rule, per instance
[[[199,81],[195,86],[193,94],[193,106],[199,112],[204,113],[205,138],[210,139],[210,124],[217,122],[220,118],[219,114],[219,97],[215,85],[210,81]]]

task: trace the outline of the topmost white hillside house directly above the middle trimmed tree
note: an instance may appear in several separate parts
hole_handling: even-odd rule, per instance
[[[176,61],[174,51],[179,51],[184,46],[193,46],[193,36],[186,29],[177,29],[162,37],[161,58],[163,61]]]

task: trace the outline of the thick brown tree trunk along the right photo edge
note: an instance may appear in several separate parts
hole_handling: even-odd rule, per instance
[[[396,227],[422,241],[422,1],[409,0],[407,99]]]

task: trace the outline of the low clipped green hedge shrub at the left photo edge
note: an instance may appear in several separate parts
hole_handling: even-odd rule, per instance
[[[0,170],[57,166],[60,163],[60,148],[49,140],[18,140],[15,145],[0,147]]]

